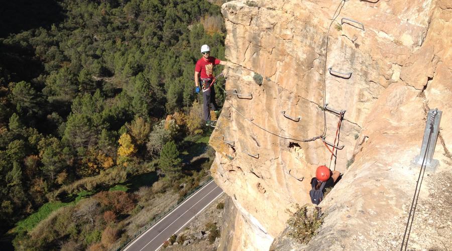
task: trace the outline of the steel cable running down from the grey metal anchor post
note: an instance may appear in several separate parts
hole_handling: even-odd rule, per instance
[[[403,238],[402,238],[402,245],[400,247],[400,251],[403,250],[403,244],[405,243],[405,250],[408,247],[408,239],[410,237],[410,232],[411,232],[411,226],[413,225],[413,220],[414,220],[414,212],[416,211],[416,206],[417,206],[417,200],[419,198],[419,192],[420,192],[420,187],[422,184],[422,180],[424,179],[424,173],[425,173],[425,168],[426,165],[424,166],[426,157],[427,157],[427,152],[428,149],[430,148],[430,140],[431,140],[431,135],[433,134],[433,122],[435,119],[436,113],[433,113],[433,116],[431,117],[430,120],[430,133],[428,134],[428,141],[427,141],[427,146],[425,148],[425,153],[424,153],[424,157],[422,159],[422,164],[421,164],[421,168],[419,170],[419,176],[417,178],[416,181],[416,188],[414,189],[414,195],[413,195],[413,201],[411,202],[411,206],[410,206],[410,212],[408,213],[408,220],[406,222],[406,226],[405,226],[405,232],[403,233]],[[422,174],[422,176],[421,176]],[[418,189],[419,187],[419,189]],[[411,217],[411,213],[412,217]],[[410,222],[411,219],[411,222]],[[408,230],[408,225],[409,225],[409,230]],[[408,232],[408,235],[407,235]],[[405,242],[405,237],[406,237],[406,242]]]

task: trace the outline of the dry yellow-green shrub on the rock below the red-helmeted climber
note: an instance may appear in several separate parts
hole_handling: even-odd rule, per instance
[[[308,210],[307,206],[296,205],[297,211],[289,218],[287,224],[291,226],[288,235],[301,243],[308,243],[317,234],[317,229],[323,223],[323,215],[320,207]]]

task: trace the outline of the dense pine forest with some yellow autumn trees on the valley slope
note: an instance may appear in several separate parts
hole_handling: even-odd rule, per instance
[[[224,60],[220,7],[204,0],[3,7],[0,231],[13,232],[18,249],[107,248],[121,235],[109,223],[138,210],[139,198],[102,187],[149,170],[168,180],[188,175],[180,166],[183,139],[206,130],[194,66],[202,44]],[[76,205],[82,190],[94,195]],[[10,230],[49,202],[72,203],[46,219],[52,229],[39,236]]]

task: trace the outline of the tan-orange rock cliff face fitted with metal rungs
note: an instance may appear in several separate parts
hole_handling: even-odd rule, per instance
[[[235,64],[224,71],[211,173],[237,209],[222,248],[268,250],[294,205],[310,203],[323,164],[344,176],[320,204],[319,234],[303,246],[279,236],[272,248],[400,248],[419,174],[412,162],[436,107],[440,164],[423,179],[409,247],[450,246],[452,2],[248,0],[225,3],[222,14]],[[331,164],[318,136],[332,143],[338,116],[324,103],[347,110],[345,147]]]

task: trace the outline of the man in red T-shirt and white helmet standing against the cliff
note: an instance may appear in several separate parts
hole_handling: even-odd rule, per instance
[[[212,83],[213,80],[213,66],[217,64],[225,65],[226,62],[210,57],[210,47],[208,45],[201,46],[201,53],[202,58],[196,62],[194,78],[196,93],[199,93],[199,91],[202,90],[202,108],[205,124],[206,126],[210,126],[212,122],[210,121],[209,105],[212,106],[213,110],[216,110],[217,108],[215,103],[215,89],[213,86],[210,87],[210,83]],[[199,78],[201,79],[201,88],[199,88]]]

